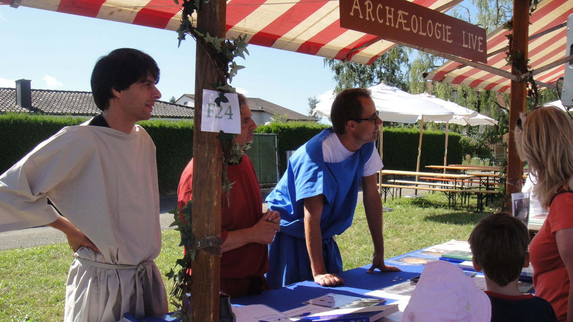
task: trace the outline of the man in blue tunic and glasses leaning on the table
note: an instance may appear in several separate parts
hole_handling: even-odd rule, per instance
[[[368,273],[397,272],[384,264],[382,200],[376,172],[382,160],[374,141],[379,119],[364,88],[346,89],[331,109],[332,127],[324,129],[291,156],[285,174],[266,198],[281,214],[281,230],[269,246],[271,288],[314,280],[323,286],[343,284],[342,258],[334,236],[352,224],[362,179],[364,210],[374,258]]]

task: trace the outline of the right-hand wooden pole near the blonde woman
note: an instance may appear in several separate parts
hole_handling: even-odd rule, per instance
[[[512,52],[520,52],[523,62],[528,58],[528,29],[529,28],[529,1],[513,0],[513,48]],[[525,65],[525,64],[524,64]],[[525,70],[527,66],[523,66]],[[512,74],[518,75],[522,71],[512,66]],[[512,193],[521,192],[523,176],[523,162],[517,155],[515,147],[515,123],[520,113],[525,112],[526,83],[524,81],[511,81],[511,101],[509,105],[509,142],[507,156],[507,182],[505,184],[506,197],[511,198]]]

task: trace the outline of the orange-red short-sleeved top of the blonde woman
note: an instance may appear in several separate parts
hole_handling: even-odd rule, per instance
[[[573,193],[556,195],[539,233],[529,245],[535,295],[551,303],[559,321],[567,319],[569,275],[557,249],[555,231],[573,227]]]

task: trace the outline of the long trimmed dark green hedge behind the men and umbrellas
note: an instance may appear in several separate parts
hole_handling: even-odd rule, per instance
[[[7,113],[0,115],[0,173],[6,171],[40,142],[62,127],[77,125],[84,117],[56,117]],[[193,158],[193,121],[152,120],[139,122],[151,136],[157,148],[159,192],[175,191],[183,169]],[[257,133],[276,133],[280,174],[286,170],[285,151],[296,150],[328,125],[292,122],[273,123],[256,129]],[[448,164],[461,163],[461,136],[449,134]],[[384,168],[392,170],[416,169],[419,130],[412,128],[384,128]],[[420,170],[430,164],[444,164],[445,132],[424,131]]]

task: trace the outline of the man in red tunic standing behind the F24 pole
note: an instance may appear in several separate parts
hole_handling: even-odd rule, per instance
[[[240,147],[253,140],[257,124],[251,118],[246,97],[238,94],[241,108],[241,134],[235,142]],[[227,178],[234,182],[229,203],[221,196],[221,290],[231,297],[260,294],[268,290],[264,274],[269,270],[268,244],[280,230],[278,211],[262,213],[261,190],[253,163],[245,154],[239,163],[227,166]],[[178,205],[191,200],[193,159],[187,164],[179,182]]]

